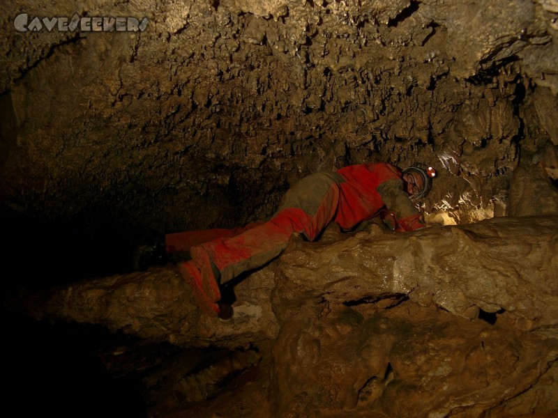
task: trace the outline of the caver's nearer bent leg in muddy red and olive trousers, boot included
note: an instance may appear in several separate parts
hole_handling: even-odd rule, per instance
[[[258,268],[278,256],[287,247],[293,233],[303,233],[308,240],[317,238],[334,219],[340,199],[338,178],[334,173],[317,173],[304,178],[289,189],[278,212],[269,222],[255,226],[233,238],[218,238],[195,245],[188,268],[181,272],[194,274],[212,309],[218,312],[220,284],[241,272]],[[193,266],[195,270],[193,272]]]

